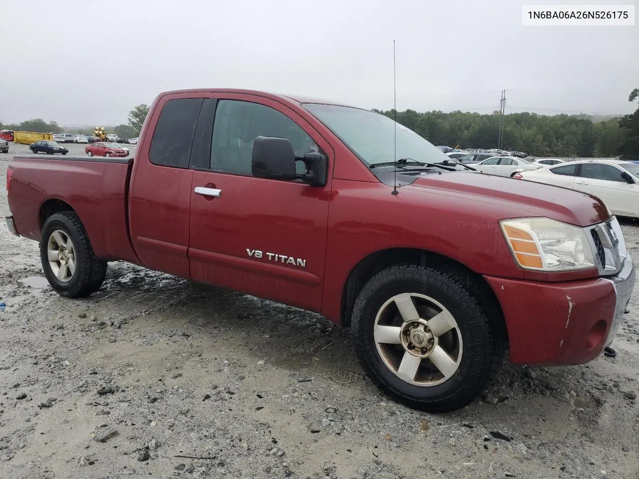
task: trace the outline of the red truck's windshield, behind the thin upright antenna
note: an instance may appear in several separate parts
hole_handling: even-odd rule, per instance
[[[442,150],[392,119],[368,110],[306,103],[324,123],[368,166],[410,158],[422,163],[442,163],[450,158]],[[397,128],[394,128],[397,125]],[[397,133],[397,154],[395,134]]]

